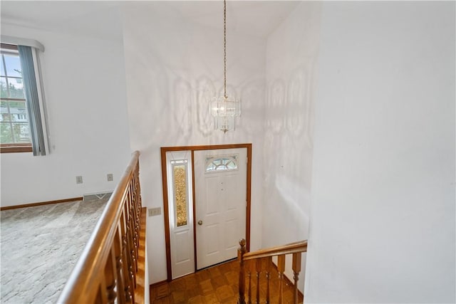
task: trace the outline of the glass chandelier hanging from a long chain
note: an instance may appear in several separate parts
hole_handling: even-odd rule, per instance
[[[241,116],[241,100],[227,95],[227,0],[223,1],[223,96],[212,98],[211,114],[214,117],[215,130],[224,133],[234,130],[234,117]]]

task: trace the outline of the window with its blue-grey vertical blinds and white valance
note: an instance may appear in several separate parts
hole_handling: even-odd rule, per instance
[[[38,41],[1,36],[0,152],[46,154]],[[6,43],[5,43],[6,42]]]

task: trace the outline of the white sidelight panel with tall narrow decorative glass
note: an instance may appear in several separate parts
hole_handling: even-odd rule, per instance
[[[192,152],[167,152],[172,278],[195,272]]]

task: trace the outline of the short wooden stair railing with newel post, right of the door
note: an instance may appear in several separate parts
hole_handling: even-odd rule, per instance
[[[293,270],[294,278],[294,303],[298,304],[298,281],[299,273],[301,272],[301,253],[307,251],[307,240],[299,241],[296,243],[289,243],[284,246],[277,246],[259,251],[247,253],[246,241],[242,239],[239,241],[239,249],[237,250],[237,259],[239,261],[239,300],[238,304],[246,304],[245,285],[246,285],[246,271],[247,280],[249,281],[249,290],[247,294],[247,303],[252,303],[252,272],[255,274],[257,280],[256,296],[254,303],[260,303],[260,276],[261,272],[266,273],[266,303],[271,303],[271,295],[269,288],[269,281],[271,279],[271,264],[272,257],[277,256],[277,271],[279,273],[279,304],[284,300],[284,272],[285,272],[285,256],[291,254],[293,256],[291,268]],[[248,265],[249,264],[249,265]]]

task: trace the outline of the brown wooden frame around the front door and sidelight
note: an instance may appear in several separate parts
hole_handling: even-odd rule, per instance
[[[167,185],[167,161],[166,152],[191,151],[192,152],[192,168],[195,165],[194,152],[200,150],[224,150],[224,149],[239,149],[247,148],[247,192],[246,192],[246,246],[247,252],[250,251],[250,199],[252,186],[252,144],[232,144],[232,145],[201,145],[201,146],[181,146],[181,147],[160,147],[162,157],[162,189],[163,189],[163,215],[165,217],[165,244],[166,244],[166,269],[167,281],[172,281],[171,273],[171,242],[170,242],[170,202],[168,198]],[[197,270],[197,239],[196,239],[196,202],[195,202],[195,170],[192,169],[192,189],[193,189],[193,250],[195,254],[195,272]]]

